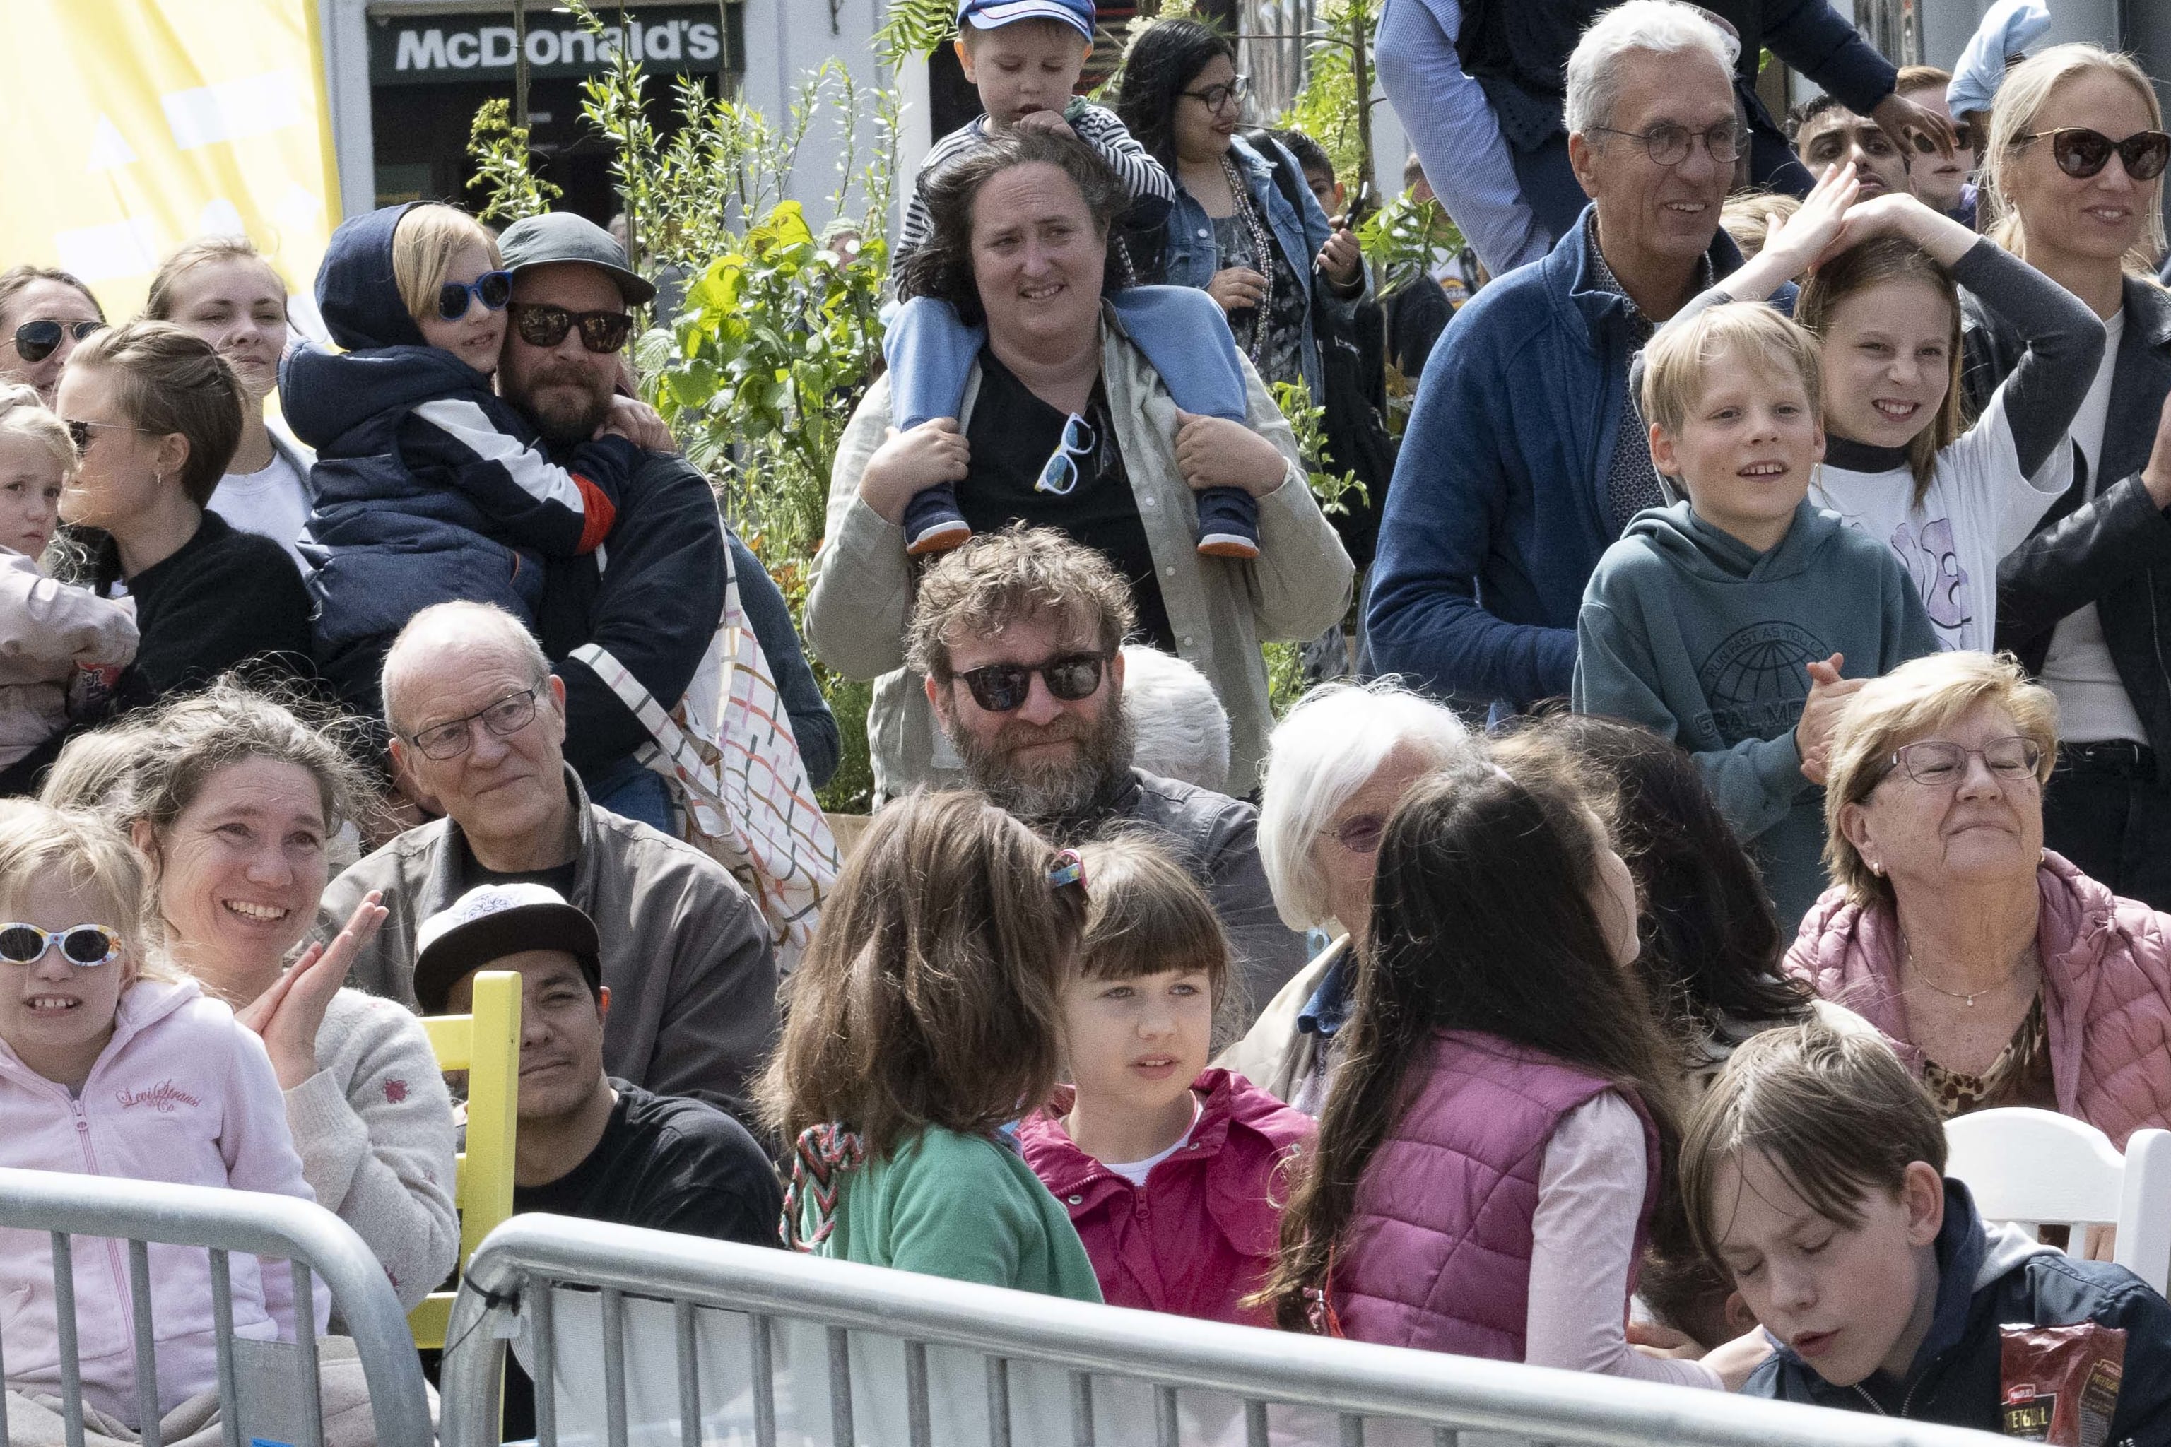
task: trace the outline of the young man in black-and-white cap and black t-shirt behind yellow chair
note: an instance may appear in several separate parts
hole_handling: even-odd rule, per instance
[[[610,989],[595,922],[549,885],[478,885],[415,933],[415,998],[473,1007],[478,970],[521,976],[512,1211],[777,1245],[784,1191],[745,1126],[712,1104],[604,1074]],[[506,1384],[508,1440],[534,1436],[523,1375]]]

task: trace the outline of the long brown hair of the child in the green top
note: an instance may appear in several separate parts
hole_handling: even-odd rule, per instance
[[[868,827],[784,985],[756,1087],[786,1141],[840,1122],[871,1158],[929,1126],[983,1135],[1044,1102],[1086,894],[979,794],[914,792]],[[1090,881],[1088,881],[1090,883]]]

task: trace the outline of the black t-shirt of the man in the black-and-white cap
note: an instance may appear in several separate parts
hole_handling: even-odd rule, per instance
[[[784,1189],[747,1128],[686,1096],[612,1080],[619,1104],[588,1158],[545,1187],[515,1187],[512,1213],[777,1245]]]

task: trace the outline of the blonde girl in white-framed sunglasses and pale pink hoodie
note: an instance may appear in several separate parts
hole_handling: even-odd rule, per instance
[[[0,824],[0,1165],[313,1200],[263,1041],[143,946],[143,863],[106,824],[11,803]],[[128,1250],[78,1237],[82,1401],[137,1421]],[[284,1263],[230,1258],[234,1334],[293,1339]],[[217,1386],[211,1258],[150,1247],[158,1412]],[[310,1302],[323,1332],[328,1297]],[[43,1232],[0,1230],[7,1386],[59,1395]]]

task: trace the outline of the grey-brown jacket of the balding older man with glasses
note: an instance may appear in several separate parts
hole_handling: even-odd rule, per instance
[[[660,1096],[695,1096],[745,1115],[747,1078],[777,1024],[777,961],[753,900],[732,874],[647,824],[588,803],[564,770],[580,833],[571,902],[604,939],[604,1070]],[[415,1004],[415,931],[462,894],[469,863],[449,818],[408,829],[323,892],[330,939],[371,889],[391,911],[347,983]]]

